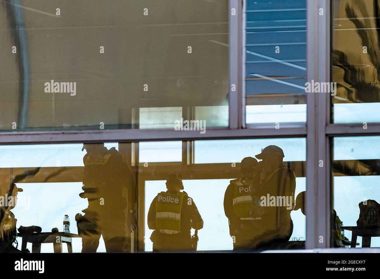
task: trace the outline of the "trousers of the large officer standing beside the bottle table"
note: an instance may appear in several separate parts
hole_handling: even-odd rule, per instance
[[[82,253],[95,253],[103,236],[106,252],[121,253],[125,244],[125,214],[106,214],[97,223],[97,233],[82,236]]]

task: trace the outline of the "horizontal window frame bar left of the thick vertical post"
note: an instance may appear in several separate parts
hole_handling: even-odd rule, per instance
[[[275,129],[207,129],[174,131],[174,129],[117,129],[94,131],[0,132],[0,145],[82,142],[146,142],[205,139],[251,139],[271,137],[306,137],[306,126]]]

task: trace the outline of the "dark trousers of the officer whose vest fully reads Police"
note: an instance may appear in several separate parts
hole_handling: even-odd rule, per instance
[[[152,234],[153,252],[193,252],[190,234],[167,235],[155,231]]]

